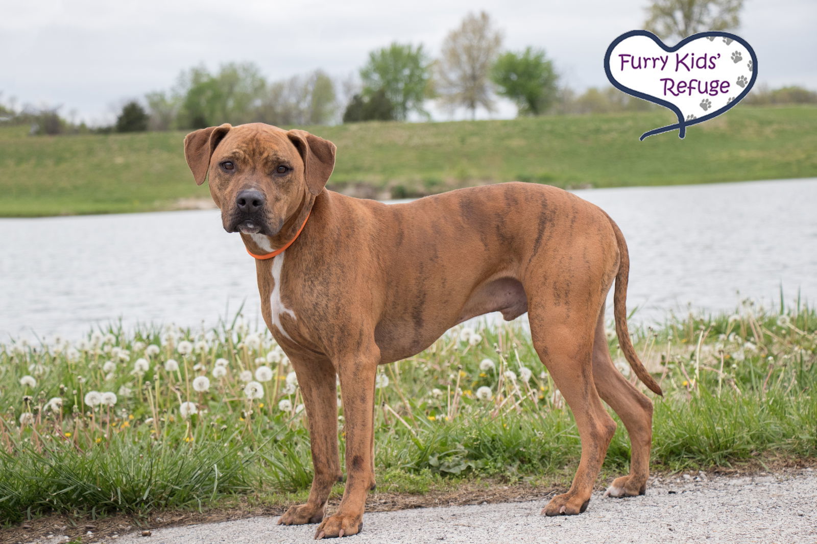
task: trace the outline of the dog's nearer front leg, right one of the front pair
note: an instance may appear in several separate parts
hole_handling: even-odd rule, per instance
[[[372,487],[374,378],[380,350],[368,346],[337,359],[346,430],[346,490],[337,513],[324,519],[315,538],[343,537],[363,528],[366,494]]]

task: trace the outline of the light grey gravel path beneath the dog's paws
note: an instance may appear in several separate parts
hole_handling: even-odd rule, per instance
[[[583,515],[539,515],[544,500],[371,513],[364,531],[342,541],[425,542],[817,542],[817,470],[786,475],[673,477],[653,481],[643,497],[595,493]],[[312,542],[315,525],[283,527],[277,518],[132,533],[118,544]]]

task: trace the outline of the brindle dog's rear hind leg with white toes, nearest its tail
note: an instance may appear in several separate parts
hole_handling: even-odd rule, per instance
[[[653,404],[646,395],[624,379],[610,359],[602,307],[593,343],[593,381],[601,399],[618,414],[630,435],[630,474],[614,479],[605,497],[643,495],[650,476]]]

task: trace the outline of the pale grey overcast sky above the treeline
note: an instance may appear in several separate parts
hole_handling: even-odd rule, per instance
[[[606,85],[602,61],[641,29],[649,0],[32,0],[0,3],[0,100],[62,105],[112,120],[124,99],[171,87],[182,69],[256,63],[268,80],[314,69],[347,77],[392,41],[440,44],[468,11],[488,11],[515,50],[543,47],[581,91]],[[758,84],[817,89],[817,0],[747,0],[735,31],[754,47]],[[512,116],[504,107],[495,116]],[[435,118],[444,118],[436,114]]]

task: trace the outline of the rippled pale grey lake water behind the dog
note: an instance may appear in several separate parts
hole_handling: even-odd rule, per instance
[[[817,178],[579,190],[627,238],[636,321],[817,296]],[[0,342],[98,323],[261,323],[255,264],[217,210],[0,219]],[[739,292],[739,294],[737,294]]]

